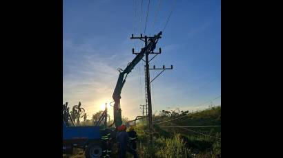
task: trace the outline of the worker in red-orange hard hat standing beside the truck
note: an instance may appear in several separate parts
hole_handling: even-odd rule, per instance
[[[137,153],[135,150],[129,147],[129,135],[126,133],[126,126],[122,124],[119,127],[120,132],[117,134],[117,142],[118,142],[118,150],[119,150],[119,158],[126,157],[126,151],[132,154],[135,158],[137,158]]]

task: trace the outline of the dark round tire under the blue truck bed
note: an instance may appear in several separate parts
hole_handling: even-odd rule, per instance
[[[102,156],[102,146],[99,143],[91,143],[86,148],[86,158],[98,158]]]

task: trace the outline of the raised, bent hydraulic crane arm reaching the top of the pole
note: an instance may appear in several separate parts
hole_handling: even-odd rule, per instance
[[[120,99],[121,99],[121,89],[123,89],[123,86],[126,82],[126,78],[130,71],[134,69],[135,65],[139,63],[142,58],[144,58],[145,54],[149,54],[150,52],[153,52],[153,50],[156,47],[156,43],[159,39],[159,37],[162,35],[162,32],[159,32],[157,35],[154,36],[154,38],[150,38],[148,45],[146,47],[142,48],[141,52],[135,56],[133,61],[128,64],[126,69],[122,70],[119,69],[120,74],[119,78],[117,80],[117,84],[113,93],[113,100],[114,100],[114,122],[115,126],[121,126],[122,120],[121,120],[121,107],[120,107]],[[126,76],[125,76],[126,74]]]

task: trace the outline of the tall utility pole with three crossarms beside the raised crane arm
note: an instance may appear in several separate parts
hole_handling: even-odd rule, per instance
[[[146,47],[148,45],[148,40],[150,40],[152,38],[155,38],[155,37],[154,36],[142,36],[142,34],[139,37],[134,37],[134,35],[132,34],[132,37],[130,39],[139,39],[141,41],[144,41],[144,47]],[[162,37],[159,36],[159,38],[162,38]],[[135,53],[135,49],[133,49],[132,52],[133,52],[133,54],[138,54],[138,53]],[[151,50],[150,52],[146,52],[146,54],[145,54],[146,60],[144,60],[144,62],[146,63],[146,65],[144,67],[145,87],[146,87],[146,115],[148,114],[147,115],[148,116],[148,129],[149,129],[149,133],[150,133],[149,144],[152,148],[153,147],[153,113],[152,113],[153,108],[152,108],[152,102],[151,102],[150,82],[152,82],[153,80],[150,81],[149,63],[150,63],[151,60],[153,60],[153,58],[155,58],[155,56],[153,56],[153,58],[149,59],[148,58],[149,54],[155,54],[155,56],[157,56],[158,54],[161,54],[161,48],[159,48],[159,52],[157,52],[157,53],[153,52],[153,50]],[[154,69],[155,69],[155,66],[154,66]],[[173,69],[172,65],[171,65],[171,69]],[[165,67],[164,67],[164,70],[165,70]],[[157,78],[158,76],[156,76],[155,78]],[[154,80],[155,80],[155,78],[154,78]]]

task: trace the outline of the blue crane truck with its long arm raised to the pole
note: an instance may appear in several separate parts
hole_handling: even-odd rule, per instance
[[[117,80],[117,84],[115,86],[115,90],[113,93],[113,100],[114,100],[114,122],[112,125],[108,126],[107,128],[101,129],[99,124],[101,122],[101,117],[99,118],[99,124],[96,126],[75,126],[72,122],[69,124],[69,121],[66,118],[70,117],[67,113],[67,117],[63,119],[63,151],[64,153],[72,153],[73,148],[81,148],[85,151],[86,158],[97,158],[102,157],[104,155],[103,151],[106,150],[103,142],[101,141],[102,135],[106,133],[106,131],[110,131],[112,137],[111,141],[115,141],[115,135],[117,133],[115,127],[121,126],[122,119],[121,119],[121,90],[126,82],[126,78],[128,74],[134,69],[135,65],[139,63],[140,60],[144,57],[144,55],[153,52],[156,47],[157,41],[161,38],[162,32],[159,32],[154,38],[150,38],[148,41],[148,45],[142,48],[141,52],[135,56],[131,63],[128,63],[126,69],[118,69],[119,71],[119,78]],[[105,113],[104,113],[105,114]],[[107,143],[108,144],[108,143]],[[109,146],[112,143],[109,143]],[[107,148],[109,148],[107,146]]]

